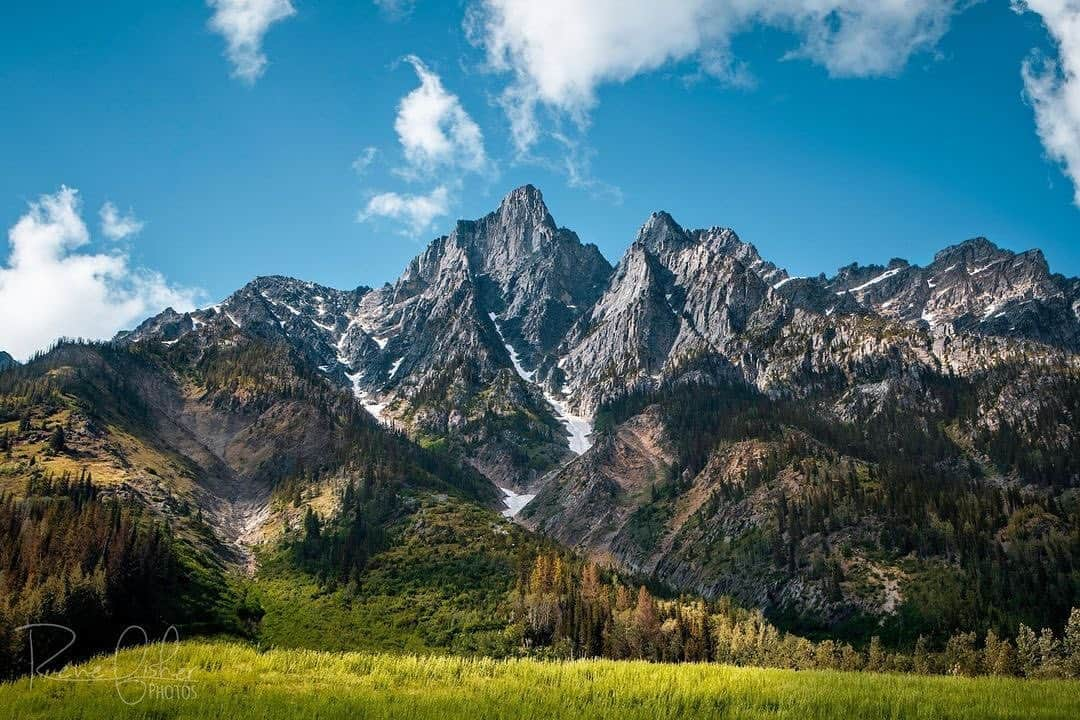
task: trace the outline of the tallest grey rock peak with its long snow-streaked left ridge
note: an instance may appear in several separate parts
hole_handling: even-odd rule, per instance
[[[219,305],[166,311],[120,339],[192,334],[206,344],[231,327],[280,340],[382,422],[522,489],[583,444],[557,398],[515,370],[550,354],[609,272],[525,186],[433,241],[393,285],[341,291],[260,277]]]

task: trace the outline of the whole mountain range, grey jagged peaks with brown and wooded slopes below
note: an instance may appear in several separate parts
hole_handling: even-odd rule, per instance
[[[1080,603],[1080,279],[982,237],[796,277],[660,212],[612,267],[525,186],[381,287],[258,277],[5,366],[79,398],[95,477],[204,508],[248,567],[377,448],[414,487],[804,629]],[[305,502],[272,502],[283,483]]]

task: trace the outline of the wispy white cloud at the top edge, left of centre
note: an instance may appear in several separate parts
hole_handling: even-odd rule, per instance
[[[291,0],[207,0],[214,9],[210,27],[226,41],[232,74],[253,83],[266,70],[262,36],[270,26],[296,14]]]

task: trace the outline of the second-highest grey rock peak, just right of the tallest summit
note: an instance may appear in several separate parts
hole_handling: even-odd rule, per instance
[[[745,337],[789,314],[768,280],[786,273],[726,229],[687,232],[656,213],[556,362],[575,407],[592,412],[626,392],[654,390],[711,358],[727,376]]]

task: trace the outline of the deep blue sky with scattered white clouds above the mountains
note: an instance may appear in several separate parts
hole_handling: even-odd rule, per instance
[[[733,227],[796,274],[926,262],[974,235],[1040,247],[1054,270],[1080,274],[1068,164],[1080,122],[1067,101],[1080,49],[1058,42],[1077,15],[1069,2],[1020,12],[1005,0],[914,0],[881,16],[875,3],[834,0],[824,4],[837,14],[816,17],[800,9],[814,3],[783,0],[772,8],[786,10],[732,17],[686,0],[685,17],[662,18],[611,10],[633,2],[551,15],[516,2],[6,3],[0,222],[18,227],[37,203],[22,227],[38,242],[59,215],[39,199],[78,189],[85,236],[65,226],[51,257],[123,259],[97,288],[106,310],[131,300],[113,324],[162,299],[218,299],[259,274],[392,281],[454,218],[478,217],[525,182],[612,262],[662,208],[688,227]],[[241,35],[245,12],[256,29],[258,13],[281,16],[239,59],[210,24],[229,5]],[[837,33],[845,23],[862,23],[855,40]],[[253,53],[265,67],[252,70]],[[1039,74],[1047,62],[1058,69]],[[395,122],[419,71],[437,92],[415,97],[403,133]],[[512,125],[508,103],[535,112]],[[431,112],[445,137],[424,136]],[[362,172],[360,157],[373,158]],[[434,199],[430,223],[403,218],[406,195]],[[106,202],[141,229],[107,236]],[[11,289],[31,276],[11,237],[0,255],[9,307],[33,300]],[[0,348],[41,343],[3,337],[4,320]],[[111,331],[80,322],[48,331]]]

